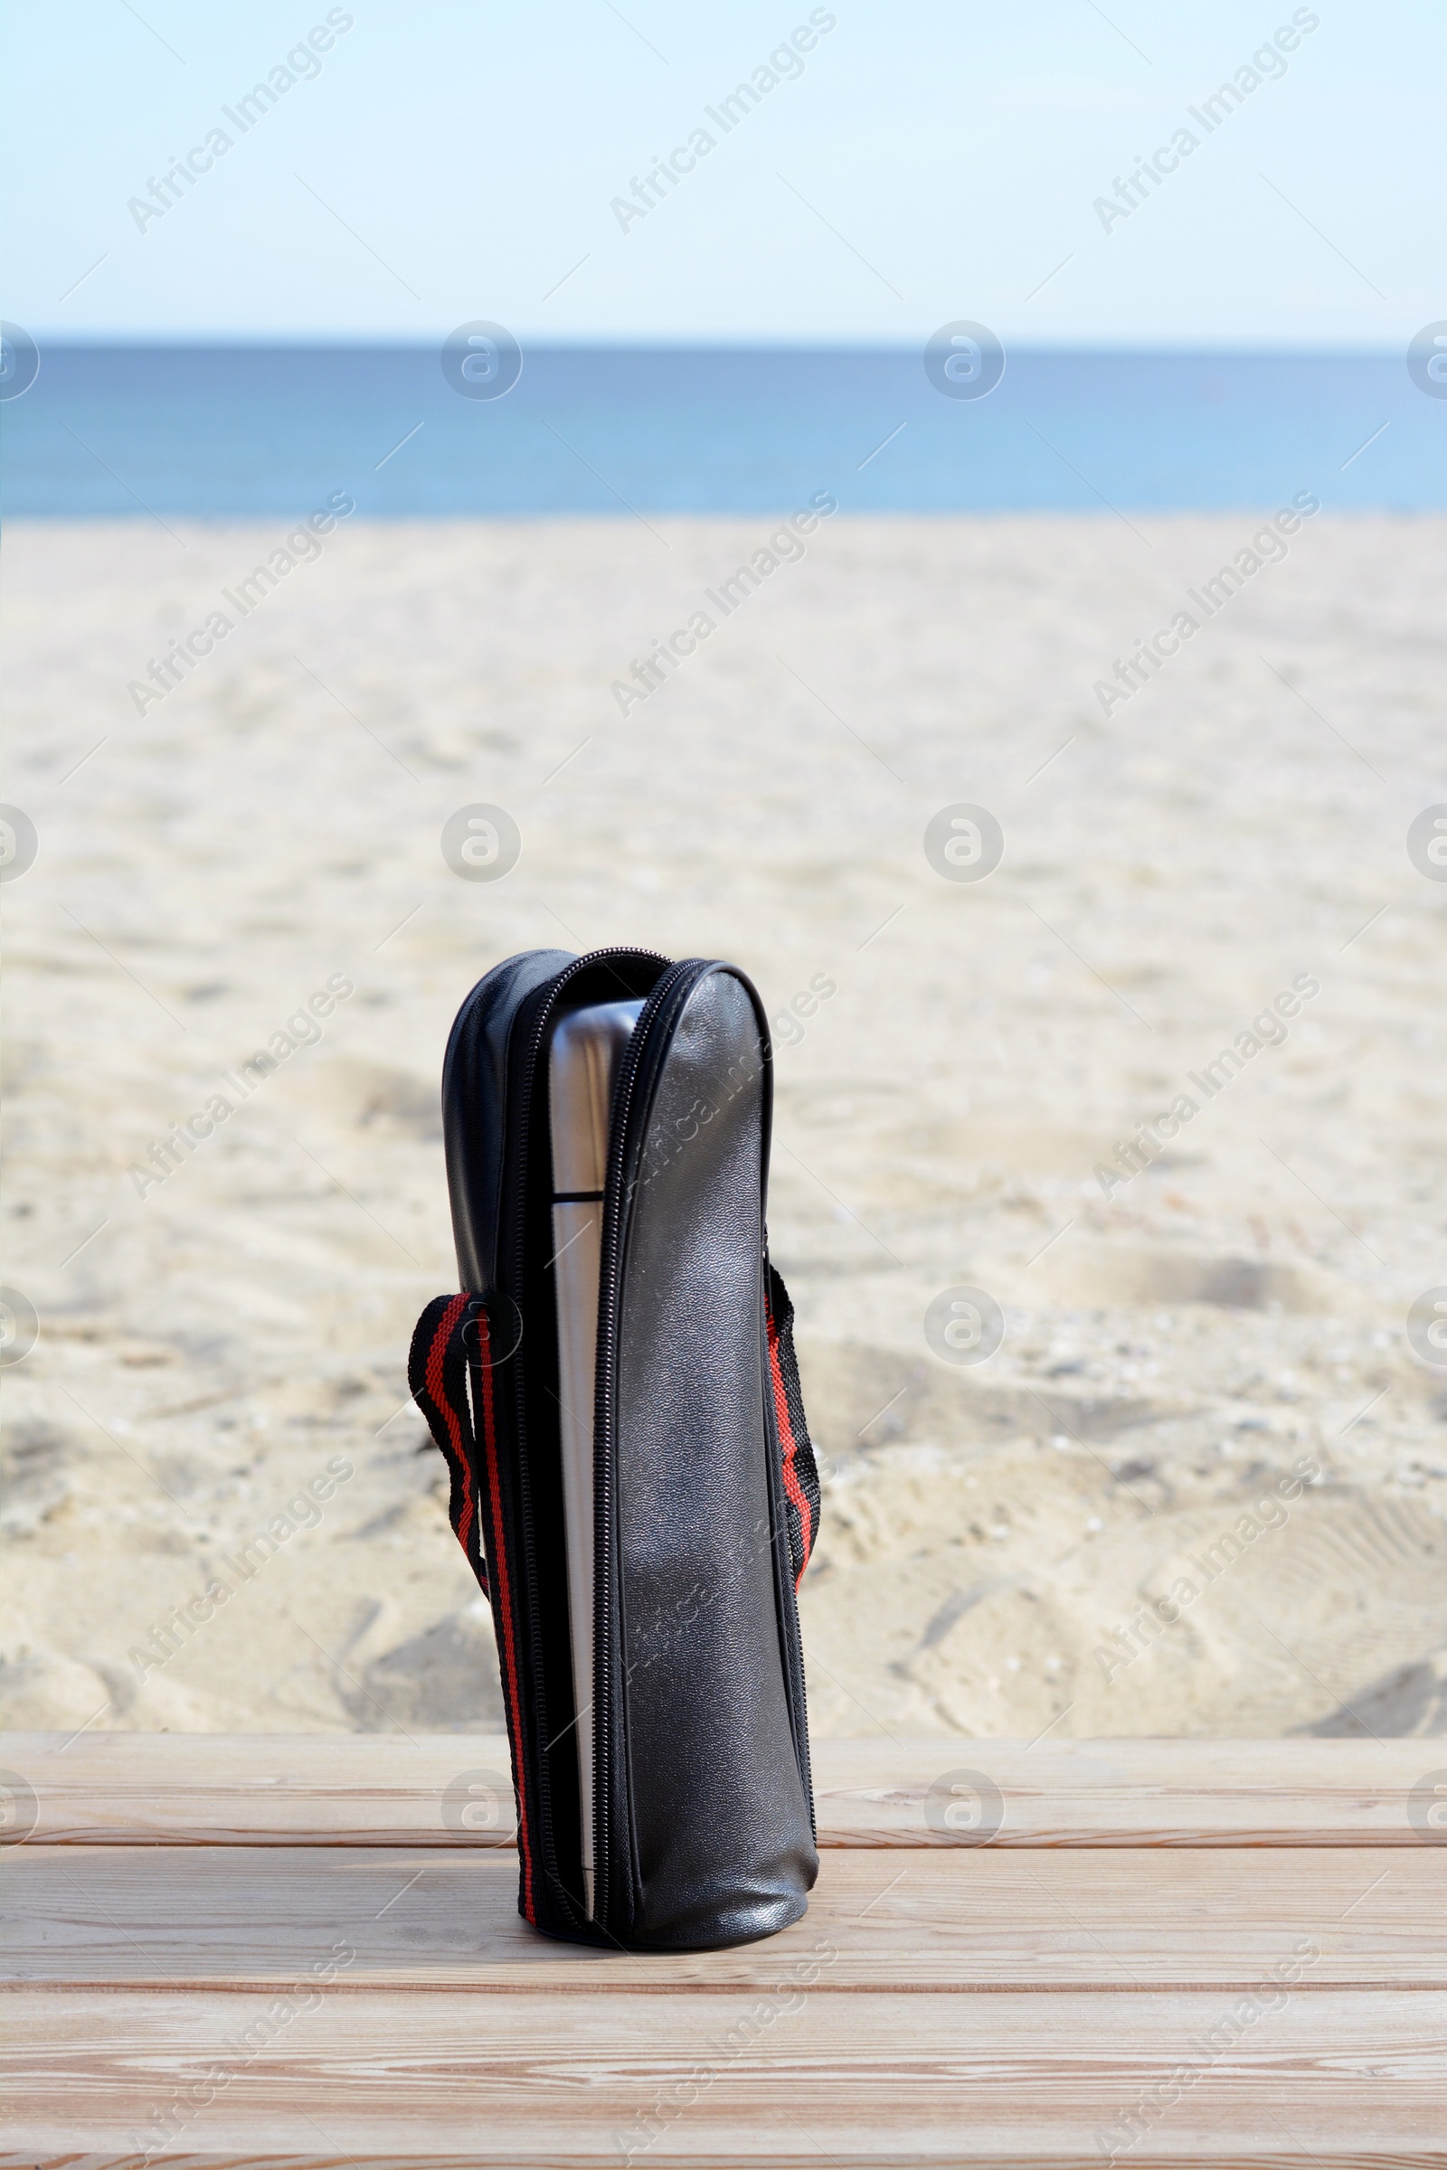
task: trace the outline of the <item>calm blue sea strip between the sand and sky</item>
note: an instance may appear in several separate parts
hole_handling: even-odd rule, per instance
[[[1011,354],[948,399],[915,352],[538,347],[488,401],[434,347],[48,347],[0,454],[48,519],[1447,508],[1447,399],[1349,354]]]

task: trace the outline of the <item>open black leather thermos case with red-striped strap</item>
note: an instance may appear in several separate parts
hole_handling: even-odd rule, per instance
[[[594,1406],[594,1680],[566,1612],[547,1055],[560,1007],[644,998],[614,1089]],[[640,1951],[770,1936],[818,1873],[796,1584],[818,1528],[792,1309],[768,1263],[768,1022],[729,963],[529,950],[458,1011],[443,1072],[462,1293],[410,1378],[488,1591],[518,1905]],[[594,1918],[575,1710],[594,1710]]]

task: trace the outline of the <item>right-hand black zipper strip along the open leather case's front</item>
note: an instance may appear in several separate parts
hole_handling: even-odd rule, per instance
[[[631,1178],[636,1161],[642,1157],[642,1139],[631,1135],[633,1102],[649,1042],[655,1037],[664,1007],[677,1005],[677,994],[692,987],[712,970],[707,959],[690,957],[675,963],[653,987],[638,1024],[623,1052],[623,1065],[614,1085],[614,1109],[607,1141],[607,1189],[603,1194],[603,1241],[599,1256],[599,1356],[597,1356],[597,1404],[594,1404],[594,1480],[592,1512],[597,1528],[594,1556],[594,1614],[592,1614],[592,1888],[594,1923],[612,1927],[612,1766],[614,1766],[614,1695],[612,1695],[612,1636],[614,1636],[614,1591],[612,1591],[612,1526],[614,1526],[614,1450],[616,1450],[616,1387],[618,1387],[618,1293],[623,1280],[623,1209],[631,1202]],[[627,1923],[623,1931],[627,1931]],[[618,1933],[618,1931],[614,1931]]]

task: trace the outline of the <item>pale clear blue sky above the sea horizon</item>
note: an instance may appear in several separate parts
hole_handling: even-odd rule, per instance
[[[1447,317],[1427,0],[74,0],[4,39],[4,315],[50,343],[1399,352]]]

